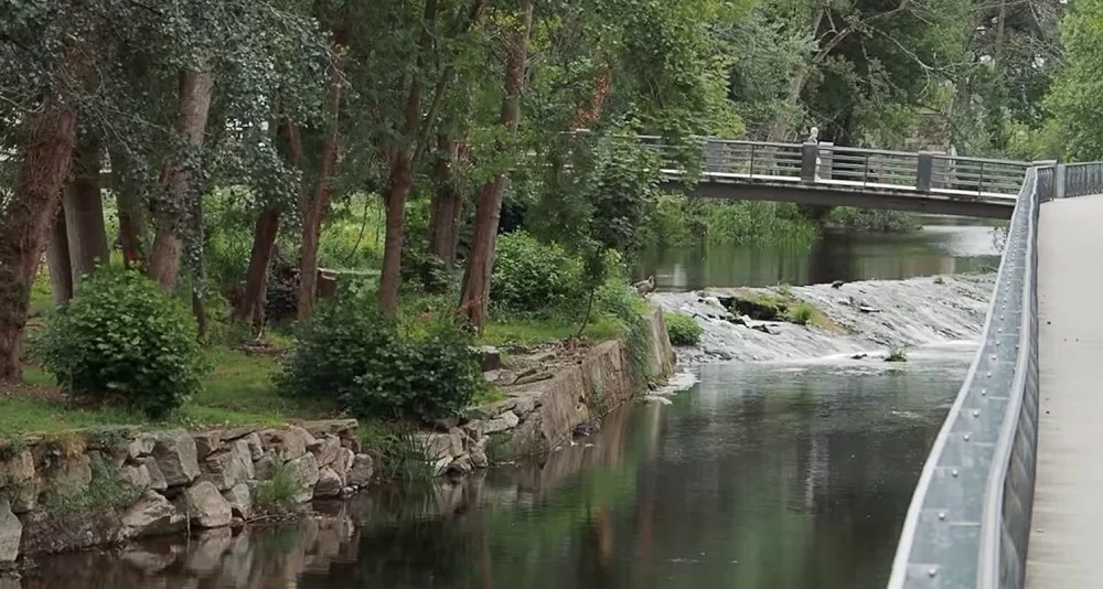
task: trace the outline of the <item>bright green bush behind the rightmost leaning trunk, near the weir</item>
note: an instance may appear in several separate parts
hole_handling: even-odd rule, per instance
[[[543,315],[581,298],[581,264],[527,233],[497,238],[490,300],[511,313]]]

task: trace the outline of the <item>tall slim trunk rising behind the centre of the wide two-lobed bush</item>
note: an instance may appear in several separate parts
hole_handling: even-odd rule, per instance
[[[426,0],[421,18],[421,34],[418,39],[417,68],[410,74],[410,92],[406,98],[403,143],[395,150],[390,163],[390,179],[387,186],[387,233],[384,237],[383,274],[379,277],[379,307],[383,314],[394,319],[398,314],[398,287],[401,282],[404,225],[406,222],[406,199],[414,183],[414,153],[417,146],[418,124],[421,121],[420,71],[428,53],[432,51],[432,29],[437,19],[437,0]],[[431,125],[431,121],[426,121]]]

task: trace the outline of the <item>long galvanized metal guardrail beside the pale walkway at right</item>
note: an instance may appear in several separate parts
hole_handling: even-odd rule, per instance
[[[982,343],[923,467],[889,589],[1020,589],[1038,443],[1038,211],[1103,194],[1103,162],[1027,170]]]

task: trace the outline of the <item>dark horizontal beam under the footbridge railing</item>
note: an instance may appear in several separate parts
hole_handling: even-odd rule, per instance
[[[930,215],[984,218],[1010,218],[1015,199],[1010,196],[956,194],[951,191],[918,192],[907,188],[831,185],[822,182],[751,181],[715,182],[703,180],[687,189],[685,182],[667,180],[665,191],[690,196],[729,201],[771,201],[824,206],[887,208]]]

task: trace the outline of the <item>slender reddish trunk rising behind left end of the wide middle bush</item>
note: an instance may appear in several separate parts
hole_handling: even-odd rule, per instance
[[[330,210],[330,199],[333,195],[333,173],[338,164],[338,147],[340,135],[338,122],[341,114],[341,58],[343,47],[347,45],[349,31],[339,28],[333,32],[330,43],[329,79],[325,89],[325,138],[323,140],[321,160],[318,165],[318,180],[312,196],[306,188],[299,191],[299,213],[302,215],[302,239],[299,245],[299,304],[297,315],[300,322],[310,320],[314,314],[314,300],[318,297],[318,244],[322,233],[322,222]],[[295,125],[288,125],[292,156],[304,165],[302,137]]]

